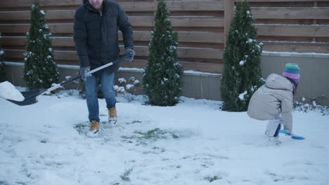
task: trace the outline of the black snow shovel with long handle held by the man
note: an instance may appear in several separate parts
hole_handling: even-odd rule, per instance
[[[99,71],[99,70],[104,69],[106,67],[110,67],[110,66],[112,66],[115,63],[122,62],[123,60],[127,59],[128,57],[129,57],[129,55],[123,55],[118,60],[115,60],[113,62],[110,62],[108,64],[105,64],[105,65],[103,65],[101,67],[97,67],[96,69],[93,69],[93,70],[89,71],[87,74],[93,74],[96,71]],[[23,97],[24,97],[24,100],[21,101],[21,102],[20,101],[15,101],[15,100],[8,100],[8,99],[6,99],[6,100],[8,100],[10,102],[13,102],[14,104],[18,104],[19,106],[25,106],[25,105],[35,104],[35,103],[38,102],[37,101],[37,97],[39,95],[44,95],[46,93],[49,93],[52,90],[56,90],[57,88],[63,87],[63,85],[66,85],[67,83],[71,83],[73,81],[77,81],[79,78],[81,78],[81,75],[76,76],[75,78],[70,78],[67,81],[63,81],[62,83],[56,84],[56,85],[54,85],[53,87],[51,87],[49,89],[32,89],[32,90],[27,90],[27,91],[21,92],[22,95],[23,95]]]

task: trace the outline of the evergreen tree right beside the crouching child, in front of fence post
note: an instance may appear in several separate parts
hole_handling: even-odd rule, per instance
[[[253,22],[249,3],[238,2],[224,50],[221,98],[226,111],[246,111],[252,94],[263,83],[263,43],[255,40],[257,30]]]

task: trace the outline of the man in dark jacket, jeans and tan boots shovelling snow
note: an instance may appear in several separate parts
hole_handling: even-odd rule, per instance
[[[117,122],[115,107],[114,72],[119,64],[93,74],[86,74],[91,69],[117,60],[120,53],[118,31],[123,36],[125,54],[129,60],[134,59],[134,41],[131,24],[123,8],[112,0],[83,0],[83,5],[75,11],[74,40],[79,56],[80,74],[86,87],[86,104],[89,111],[90,131],[100,130],[98,107],[98,80],[101,79],[101,90],[108,108],[108,120]]]

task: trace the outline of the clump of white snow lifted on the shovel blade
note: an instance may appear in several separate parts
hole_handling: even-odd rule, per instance
[[[24,100],[22,93],[20,93],[20,91],[8,81],[0,83],[0,97],[18,102],[22,102]]]

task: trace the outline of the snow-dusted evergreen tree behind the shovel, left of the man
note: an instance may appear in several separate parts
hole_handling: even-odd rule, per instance
[[[40,11],[39,3],[31,9],[30,30],[27,32],[27,46],[24,53],[23,76],[29,88],[49,88],[58,81],[58,68],[53,61],[51,32]]]

